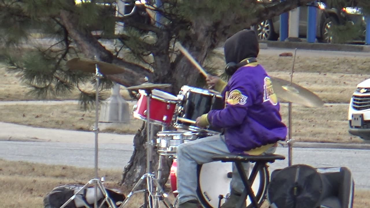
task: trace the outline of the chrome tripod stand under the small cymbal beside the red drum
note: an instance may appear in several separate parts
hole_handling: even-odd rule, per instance
[[[148,81],[147,78],[146,78],[146,81]],[[146,144],[146,146],[147,146],[147,172],[144,175],[142,175],[142,177],[135,184],[134,188],[132,188],[131,192],[127,195],[127,197],[122,202],[122,204],[120,205],[119,208],[124,207],[133,194],[137,194],[137,193],[141,193],[141,192],[145,192],[145,194],[147,194],[147,196],[148,196],[148,198],[145,198],[145,201],[144,201],[144,206],[145,207],[153,208],[153,200],[161,199],[161,200],[163,200],[166,207],[174,208],[172,206],[171,202],[169,202],[169,200],[167,198],[168,195],[164,192],[164,190],[161,187],[161,185],[159,184],[157,178],[155,178],[155,174],[151,172],[150,162],[152,161],[152,152],[153,152],[153,147],[154,147],[154,143],[152,141],[154,133],[151,131],[151,128],[150,128],[150,126],[152,124],[150,122],[150,110],[149,110],[149,108],[150,108],[150,97],[152,95],[152,90],[146,89],[145,93],[147,94],[147,114],[146,114],[146,116],[147,116],[147,121],[146,121],[146,123],[147,123],[147,144]],[[138,187],[141,185],[141,183],[144,181],[144,179],[146,179],[146,181],[147,181],[147,189],[137,190]],[[157,187],[155,195],[153,195],[153,183]],[[159,191],[160,195],[157,195],[158,191]],[[157,202],[155,203],[155,205],[157,206]]]

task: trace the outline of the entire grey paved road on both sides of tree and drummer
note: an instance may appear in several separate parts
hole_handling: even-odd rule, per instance
[[[287,157],[287,148],[277,148],[277,154]],[[100,144],[99,168],[122,169],[132,154],[129,144]],[[30,161],[44,164],[94,167],[94,145],[63,142],[0,141],[0,158],[12,161]],[[370,189],[370,150],[293,148],[293,164],[313,167],[348,167],[356,188]],[[270,172],[287,167],[287,159],[271,164]]]

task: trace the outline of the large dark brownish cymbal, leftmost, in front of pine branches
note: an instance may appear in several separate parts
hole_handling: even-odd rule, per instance
[[[125,69],[115,64],[110,64],[102,61],[94,61],[89,59],[72,58],[67,61],[67,67],[71,70],[81,70],[95,74],[95,64],[98,64],[98,69],[101,74],[121,74]]]

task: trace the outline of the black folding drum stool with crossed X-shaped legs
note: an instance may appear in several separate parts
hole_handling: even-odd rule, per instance
[[[238,169],[238,172],[240,174],[240,178],[243,181],[244,184],[244,191],[240,197],[240,201],[237,204],[237,208],[242,208],[243,202],[246,201],[247,195],[250,197],[250,201],[252,202],[252,205],[254,208],[259,208],[257,199],[255,194],[252,191],[252,184],[253,181],[256,178],[257,172],[260,168],[263,168],[266,163],[275,162],[275,160],[284,160],[285,157],[283,155],[235,155],[235,154],[228,154],[228,155],[217,155],[212,157],[213,161],[222,161],[222,162],[235,162],[236,168]],[[255,162],[252,172],[250,173],[249,178],[247,178],[246,173],[243,169],[242,163],[243,162]],[[267,188],[267,187],[266,187]]]

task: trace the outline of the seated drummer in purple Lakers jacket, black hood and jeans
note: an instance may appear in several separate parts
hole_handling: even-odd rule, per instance
[[[177,149],[178,208],[196,208],[198,164],[212,162],[223,154],[272,154],[277,141],[285,140],[286,125],[279,113],[280,105],[265,69],[257,63],[259,53],[255,31],[242,30],[225,42],[228,83],[208,76],[210,88],[222,92],[225,108],[211,110],[196,119],[198,127],[212,125],[223,133],[179,145]],[[249,163],[245,163],[246,174]],[[217,181],[215,181],[217,183]],[[231,180],[231,195],[222,208],[235,207],[244,185],[235,165]],[[244,206],[245,207],[245,206]]]

